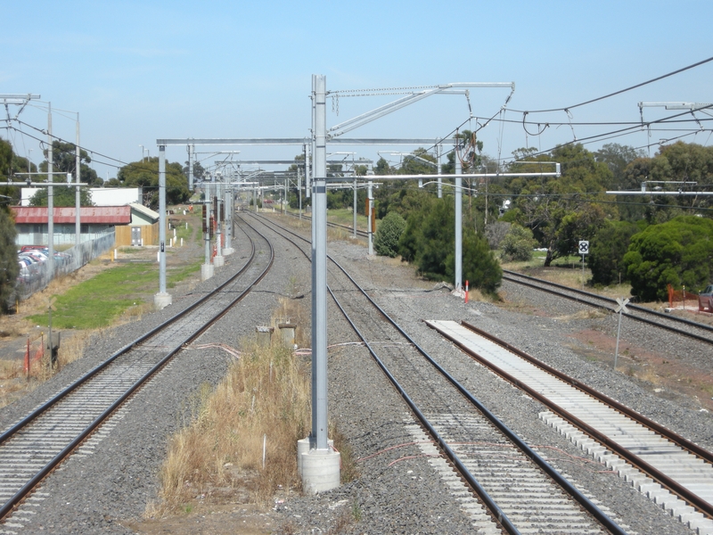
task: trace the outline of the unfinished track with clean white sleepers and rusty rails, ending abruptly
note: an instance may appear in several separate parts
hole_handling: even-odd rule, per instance
[[[475,325],[427,323],[544,403],[551,411],[540,415],[545,422],[637,490],[693,530],[713,532],[713,453]]]

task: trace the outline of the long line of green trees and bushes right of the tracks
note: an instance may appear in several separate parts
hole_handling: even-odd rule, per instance
[[[465,142],[469,135],[462,135]],[[443,172],[454,172],[455,157],[463,160],[463,173],[493,171],[495,162],[481,150],[482,145],[466,143],[458,156],[450,152]],[[418,159],[406,159],[399,169],[381,159],[375,172],[434,172],[424,162],[435,161],[432,156],[422,149],[414,156]],[[679,141],[649,157],[627,145],[605,144],[591,152],[583,144],[568,144],[547,153],[519,149],[513,156],[512,163],[499,170],[523,176],[463,179],[463,278],[471,287],[496,291],[496,250],[504,259],[529,259],[533,247],[541,248],[548,267],[556,259],[577,255],[580,240],[590,242],[589,284],[628,282],[641,300],[666,299],[667,284],[694,292],[710,284],[710,196],[606,192],[641,191],[643,182],[652,193],[713,191],[713,147]],[[552,170],[552,162],[561,164],[561,177],[524,175]],[[452,280],[455,215],[449,182],[444,180],[444,199],[434,198],[435,185],[419,189],[413,180],[381,185],[374,195],[384,228],[383,233],[377,230],[377,252],[400,255],[424,277]]]

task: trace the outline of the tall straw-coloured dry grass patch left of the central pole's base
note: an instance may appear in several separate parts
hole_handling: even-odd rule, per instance
[[[288,317],[299,321],[301,312],[291,303],[283,301],[274,324]],[[298,329],[298,337],[300,332],[304,329]],[[279,486],[299,487],[297,440],[309,431],[310,382],[305,362],[280,342],[277,329],[269,347],[260,347],[257,339],[243,341],[241,358],[223,382],[213,392],[201,389],[193,421],[170,439],[160,471],[160,501],[147,507],[147,515],[185,511],[195,498],[242,495],[258,503]]]

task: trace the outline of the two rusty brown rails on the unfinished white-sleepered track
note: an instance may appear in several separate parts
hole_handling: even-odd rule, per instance
[[[525,356],[527,356],[526,360],[528,360],[532,364],[535,364],[536,366],[542,367],[543,369],[545,369],[545,371],[547,371],[549,373],[553,373],[553,371],[556,372],[556,370],[553,370],[553,368],[551,366],[544,365],[544,363],[538,361],[537,358],[527,355],[527,353],[525,353],[524,351],[517,350],[516,348],[513,348],[512,345],[496,338],[492,334],[486,333],[485,331],[482,331],[478,327],[468,324],[467,322],[461,322],[461,324],[464,327],[471,329],[473,332],[479,333],[481,336],[488,338],[488,340],[491,340],[492,342],[496,342],[498,345],[501,345],[505,349],[511,350],[512,352],[514,352],[515,354],[517,354],[518,356],[520,356],[522,358],[526,358]],[[684,486],[680,485],[678,482],[672,480],[671,478],[668,477],[668,475],[660,472],[660,470],[658,470],[657,468],[654,468],[652,465],[649,465],[648,463],[643,461],[640,457],[629,452],[626,448],[619,446],[618,443],[611,440],[608,436],[606,436],[602,432],[597,431],[596,429],[594,429],[594,427],[590,426],[589,424],[582,422],[577,416],[572,415],[566,409],[553,403],[552,401],[547,399],[544,395],[540,394],[535,389],[529,387],[529,385],[520,382],[520,380],[517,379],[516,377],[513,377],[512,374],[508,374],[502,368],[492,364],[487,359],[480,358],[479,355],[475,351],[470,350],[467,346],[463,345],[463,343],[458,342],[454,337],[449,336],[447,333],[442,333],[442,335],[445,336],[451,342],[455,343],[455,345],[460,347],[465,353],[470,355],[472,358],[478,360],[478,362],[480,364],[482,364],[483,366],[487,366],[488,369],[490,369],[493,372],[495,372],[496,374],[500,375],[509,383],[512,383],[513,385],[517,386],[518,388],[520,388],[520,390],[526,391],[534,399],[537,399],[538,401],[543,403],[545,405],[545,407],[550,408],[553,412],[557,413],[562,418],[569,421],[571,424],[576,425],[581,431],[586,432],[586,434],[591,436],[594,440],[598,440],[604,446],[606,446],[607,448],[611,449],[616,454],[618,454],[620,457],[624,457],[625,459],[627,459],[627,461],[629,463],[631,463],[632,465],[635,465],[637,468],[641,469],[644,473],[648,473],[650,476],[652,476],[653,479],[659,481],[663,486],[667,487],[668,490],[671,490],[676,495],[678,495],[680,498],[683,498],[684,501],[688,502],[692,506],[695,506],[696,508],[701,510],[701,512],[703,512],[704,514],[707,514],[710,517],[713,517],[713,506],[711,506],[711,504],[709,504],[707,501],[701,499],[698,495],[694,494],[691,490],[686,489]],[[559,372],[556,372],[555,375],[560,377],[560,375],[564,375],[564,374],[560,374]],[[566,375],[564,375],[564,376],[567,377]],[[591,392],[593,391],[592,389],[589,389],[588,387],[583,388],[583,386],[585,386],[585,385],[578,383],[578,381],[576,381],[575,379],[572,379],[570,377],[568,377],[568,379],[569,379],[569,381],[567,379],[563,379],[563,380],[566,381],[567,383],[570,383],[572,386],[575,386],[576,388],[578,388],[582,391],[586,391],[586,393],[591,394]],[[693,442],[690,442],[689,440],[685,440],[683,437],[680,437],[676,433],[666,430],[666,428],[664,428],[660,424],[656,424],[655,422],[652,422],[652,421],[644,418],[643,416],[638,415],[632,409],[622,406],[620,403],[614,401],[611,398],[608,398],[607,396],[603,396],[599,392],[596,392],[596,394],[597,394],[596,395],[597,399],[601,399],[603,403],[605,403],[607,405],[611,405],[612,408],[614,408],[616,410],[620,410],[621,412],[624,412],[624,414],[626,414],[627,416],[634,417],[637,422],[645,425],[646,427],[649,427],[650,429],[652,429],[652,431],[660,432],[659,429],[665,430],[667,433],[664,436],[667,439],[676,442],[676,444],[678,446],[680,446],[681,448],[689,449],[689,446],[690,446],[691,447],[690,451],[693,454],[698,455],[701,458],[703,458],[709,462],[710,462],[711,457],[713,457],[710,452],[706,451],[705,449],[702,449],[700,446],[693,444]],[[601,398],[600,398],[600,396],[601,396]],[[622,410],[622,409],[626,409],[626,411]],[[647,423],[644,423],[642,421],[642,419],[647,420]]]

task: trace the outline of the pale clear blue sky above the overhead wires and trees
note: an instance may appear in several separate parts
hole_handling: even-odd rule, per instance
[[[42,96],[42,108],[51,102],[53,109],[78,111],[81,145],[122,161],[138,160],[140,144],[156,155],[159,137],[307,136],[312,74],[324,74],[328,90],[513,81],[508,108],[531,111],[581,103],[713,56],[709,1],[5,0],[0,5],[0,93],[35,93]],[[473,114],[496,114],[508,93],[473,90]],[[328,106],[327,125],[395,98],[342,98],[339,117]],[[713,103],[713,62],[573,109],[571,120],[635,121],[641,101]],[[672,113],[648,108],[644,117]],[[463,96],[433,96],[347,136],[435,138],[468,118]],[[508,111],[505,118],[518,121],[522,113]],[[44,109],[28,108],[20,119],[46,127]],[[528,119],[543,125],[569,120],[563,111],[531,113]],[[74,140],[71,113],[55,114],[53,128],[57,136]],[[573,136],[614,129],[565,125],[526,136],[517,122],[504,128],[491,123],[479,138],[488,155],[507,157],[526,144],[544,150]],[[603,143],[643,146],[684,133],[657,131],[649,137],[636,131]],[[0,136],[10,139],[16,152],[40,160],[36,140],[4,129]],[[684,140],[709,144],[709,132]],[[299,152],[240,150],[244,159],[291,158]],[[357,156],[371,158],[375,152],[365,148]],[[185,149],[168,148],[167,156],[183,162]],[[95,161],[101,177],[115,176],[116,169],[99,163],[102,157]]]

